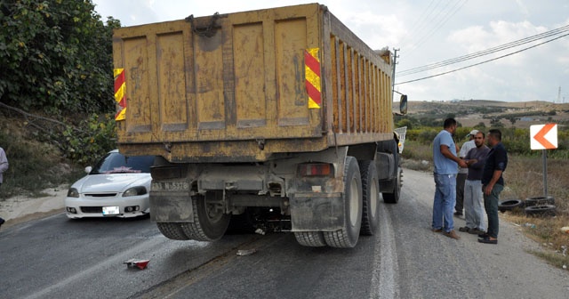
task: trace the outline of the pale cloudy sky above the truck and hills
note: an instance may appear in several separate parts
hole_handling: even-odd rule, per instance
[[[314,1],[92,2],[103,20],[112,16],[123,26],[133,26],[180,20],[190,14],[200,17]],[[531,43],[471,58],[475,53],[568,27],[568,1],[322,0],[319,4],[325,4],[372,49],[397,49],[395,90],[407,94],[409,101],[569,102],[569,36],[549,41],[569,34],[569,28],[554,36],[541,36]],[[471,59],[413,73],[413,69],[465,55]],[[437,76],[443,73],[447,74]],[[429,78],[422,79],[425,77]]]

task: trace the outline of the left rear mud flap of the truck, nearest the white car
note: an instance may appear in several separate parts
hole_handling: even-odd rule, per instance
[[[189,196],[150,193],[150,221],[194,222],[194,209]]]

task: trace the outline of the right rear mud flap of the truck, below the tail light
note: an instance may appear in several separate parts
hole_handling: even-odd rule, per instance
[[[294,194],[290,199],[293,231],[341,230],[344,205],[339,194]]]

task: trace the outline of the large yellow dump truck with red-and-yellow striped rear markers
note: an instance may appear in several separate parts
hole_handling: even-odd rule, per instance
[[[393,56],[324,5],[118,28],[113,52],[118,149],[156,156],[150,217],[165,237],[284,230],[353,247],[381,195],[397,202]]]

